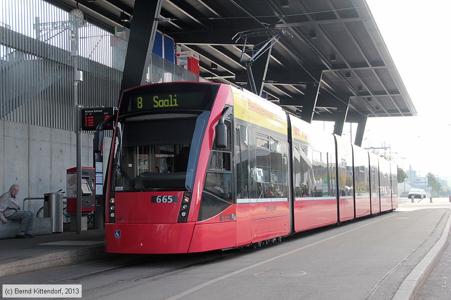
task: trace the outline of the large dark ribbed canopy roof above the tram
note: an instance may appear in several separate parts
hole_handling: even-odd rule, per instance
[[[70,11],[74,0],[48,0]],[[87,20],[111,32],[130,28],[134,0],[79,0]],[[127,20],[128,19],[128,20]],[[337,101],[349,99],[347,121],[362,114],[416,115],[365,0],[164,0],[158,30],[182,50],[200,54],[200,75],[245,86],[236,33],[275,27],[264,91],[291,112],[302,110],[306,84],[322,74],[314,119],[334,120]],[[249,39],[252,42],[252,39]],[[257,42],[256,42],[257,44]]]

